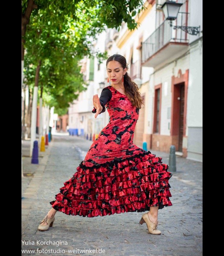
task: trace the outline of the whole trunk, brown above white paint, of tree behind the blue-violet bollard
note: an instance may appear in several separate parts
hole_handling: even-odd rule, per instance
[[[41,60],[36,67],[35,85],[33,92],[33,103],[32,103],[32,117],[31,117],[31,136],[30,136],[30,157],[32,157],[33,143],[36,140],[36,108],[37,108],[37,96],[38,96],[38,81],[40,75]]]

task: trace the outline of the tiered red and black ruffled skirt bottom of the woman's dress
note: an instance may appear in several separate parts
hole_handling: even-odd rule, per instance
[[[83,217],[171,206],[168,180],[172,174],[161,160],[146,151],[91,167],[81,162],[50,204],[57,211]]]

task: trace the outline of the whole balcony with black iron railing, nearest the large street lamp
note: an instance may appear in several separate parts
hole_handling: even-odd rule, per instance
[[[188,13],[181,13],[173,25],[182,26],[186,22]],[[185,16],[183,18],[183,16]],[[163,23],[142,43],[142,66],[155,67],[165,60],[172,59],[178,52],[188,48],[188,34],[182,30],[171,27],[170,20]]]

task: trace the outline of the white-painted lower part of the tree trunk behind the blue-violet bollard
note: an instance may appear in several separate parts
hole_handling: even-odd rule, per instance
[[[31,115],[31,129],[30,129],[30,157],[32,156],[33,144],[36,140],[36,108],[37,108],[37,94],[38,87],[34,86],[33,102],[32,102],[32,115]]]

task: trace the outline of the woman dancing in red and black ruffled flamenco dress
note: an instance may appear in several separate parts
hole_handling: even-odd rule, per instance
[[[127,74],[126,59],[115,54],[107,60],[108,82],[100,98],[93,96],[95,118],[107,108],[110,121],[92,143],[73,177],[50,202],[52,209],[40,223],[40,231],[52,227],[57,211],[87,217],[121,212],[145,212],[150,234],[157,229],[158,209],[172,205],[168,165],[133,144],[142,100],[138,86]]]

